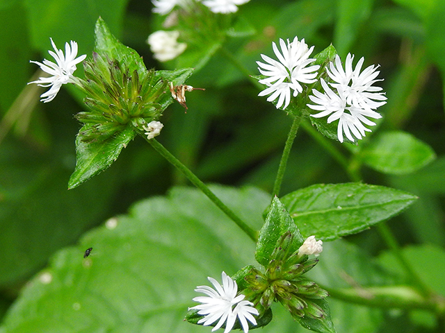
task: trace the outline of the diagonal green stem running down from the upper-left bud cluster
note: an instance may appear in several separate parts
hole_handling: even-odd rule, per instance
[[[220,210],[222,210],[227,216],[229,216],[232,221],[238,225],[241,230],[243,230],[252,241],[255,243],[258,240],[258,232],[250,228],[250,226],[245,223],[243,220],[241,220],[232,210],[230,210],[229,207],[227,207],[223,201],[221,201],[213,192],[207,187],[207,185],[204,184],[200,180],[200,178],[197,178],[195,174],[188,169],[184,164],[182,164],[175,156],[173,156],[170,151],[168,151],[162,144],[160,144],[156,139],[147,139],[147,142],[152,145],[152,147],[160,153],[163,157],[165,157],[165,160],[168,160],[173,166],[175,166],[181,173],[188,178],[188,180],[191,181],[193,185],[195,185],[198,189],[204,193],[207,198],[209,198]]]

